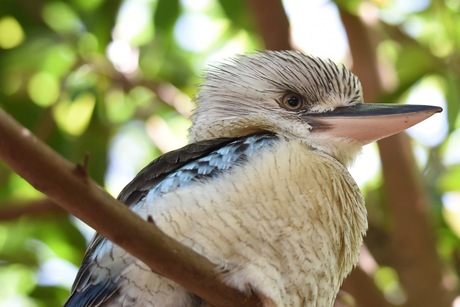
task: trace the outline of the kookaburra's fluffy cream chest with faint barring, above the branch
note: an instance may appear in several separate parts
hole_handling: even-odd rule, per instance
[[[221,264],[230,285],[250,284],[279,306],[330,305],[367,226],[346,169],[301,142],[280,141],[147,211],[166,233]]]

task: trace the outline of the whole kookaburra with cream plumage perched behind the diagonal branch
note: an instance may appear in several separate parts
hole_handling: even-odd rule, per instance
[[[364,144],[441,111],[363,103],[344,66],[294,51],[212,67],[196,103],[190,144],[147,165],[119,200],[266,306],[333,305],[367,228],[346,166]],[[66,304],[204,302],[96,235]]]

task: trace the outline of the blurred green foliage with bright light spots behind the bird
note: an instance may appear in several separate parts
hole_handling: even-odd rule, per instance
[[[67,159],[78,162],[88,152],[91,177],[116,194],[155,156],[185,144],[189,122],[184,116],[191,112],[190,97],[205,63],[263,49],[243,0],[192,2],[0,1],[0,106]],[[432,78],[446,98],[447,131],[439,132],[444,134],[435,144],[418,141],[416,148],[439,253],[455,291],[460,1],[336,2],[352,13],[367,10],[381,22],[376,39],[387,86],[382,100],[405,101]],[[369,182],[364,187],[370,218],[385,228],[382,184],[375,178]],[[0,210],[42,197],[0,164]],[[1,222],[0,305],[62,305],[87,233],[62,215]],[[380,265],[374,279],[390,301],[404,302],[392,268]]]

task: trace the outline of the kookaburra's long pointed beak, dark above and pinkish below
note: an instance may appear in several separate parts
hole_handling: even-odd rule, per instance
[[[442,108],[436,106],[360,103],[304,116],[315,134],[352,138],[368,144],[401,132],[439,112]]]

